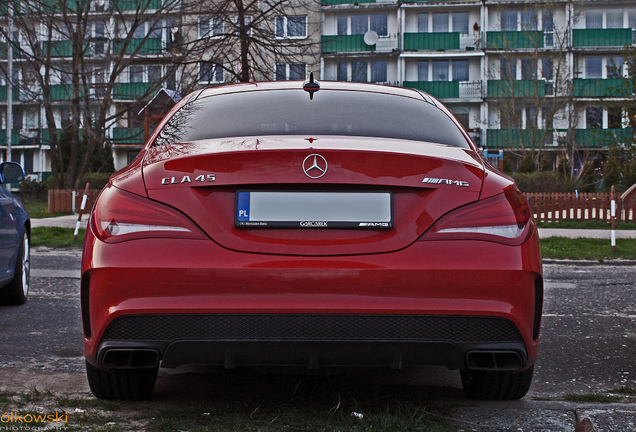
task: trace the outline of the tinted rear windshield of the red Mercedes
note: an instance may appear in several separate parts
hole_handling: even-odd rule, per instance
[[[230,93],[186,104],[155,145],[266,135],[346,135],[468,148],[455,123],[424,99],[383,93],[301,89]]]

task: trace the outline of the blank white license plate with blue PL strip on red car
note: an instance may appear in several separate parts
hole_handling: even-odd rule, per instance
[[[236,193],[235,224],[240,228],[393,227],[391,192]]]

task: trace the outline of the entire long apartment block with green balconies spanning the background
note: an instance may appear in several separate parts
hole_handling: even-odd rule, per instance
[[[168,1],[151,0],[149,11]],[[221,52],[219,43],[210,43],[231,33],[232,13],[179,3],[135,27],[123,47],[125,9],[132,16],[137,3],[91,0],[89,13],[87,61],[96,66],[88,80],[96,99],[104,89],[111,91],[113,120],[104,139],[112,145],[117,169],[141,148],[146,133],[139,110],[160,88],[178,95],[239,79],[232,50]],[[115,5],[124,13],[114,15]],[[7,10],[7,3],[0,3],[3,27]],[[635,40],[636,1],[293,0],[283,13],[262,17],[252,11],[247,22],[252,16],[259,24],[250,31],[267,29],[271,42],[284,48],[261,49],[252,59],[258,67],[250,79],[304,79],[314,72],[322,80],[420,89],[442,100],[488,152],[540,150],[556,161],[567,151],[576,161],[581,152],[632,141],[634,96],[625,56]],[[58,64],[49,84],[59,128],[70,112],[71,74],[65,64],[72,49],[64,34],[40,33]],[[21,38],[16,31],[14,43],[24,47]],[[202,41],[207,45],[192,51],[189,61],[175,60],[175,42]],[[100,71],[118,64],[105,62],[112,57],[105,54],[122,50],[129,64],[108,87],[109,75]],[[14,58],[18,65],[24,61]],[[0,150],[7,148],[7,63],[2,39]],[[14,81],[23,84],[25,70],[14,68]],[[37,85],[13,88],[12,158],[46,178],[49,132],[38,91]]]

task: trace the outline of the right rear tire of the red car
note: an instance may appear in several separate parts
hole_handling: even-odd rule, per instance
[[[534,366],[520,372],[462,370],[462,385],[474,399],[517,400],[528,393]]]

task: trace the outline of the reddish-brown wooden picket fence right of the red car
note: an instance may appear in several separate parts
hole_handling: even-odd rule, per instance
[[[609,193],[524,193],[536,220],[611,220]],[[636,197],[616,199],[616,221],[636,222]]]

